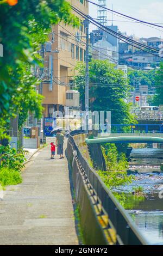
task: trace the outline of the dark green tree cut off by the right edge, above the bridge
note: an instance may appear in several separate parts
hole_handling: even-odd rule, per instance
[[[154,95],[153,105],[163,105],[163,63],[160,63],[160,69],[156,71],[155,76],[155,89],[156,94]]]

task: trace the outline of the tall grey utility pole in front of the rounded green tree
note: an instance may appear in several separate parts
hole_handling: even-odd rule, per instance
[[[85,20],[86,27],[86,58],[85,58],[85,121],[86,121],[86,133],[89,126],[89,21]]]

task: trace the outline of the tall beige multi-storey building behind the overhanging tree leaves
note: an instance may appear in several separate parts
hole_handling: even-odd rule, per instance
[[[82,13],[88,14],[88,3],[85,0],[68,0]],[[76,14],[77,15],[77,14]],[[77,15],[78,16],[78,15]],[[83,22],[83,18],[79,16]],[[73,76],[77,75],[77,62],[85,61],[86,28],[84,24],[79,28],[59,25],[52,27],[49,42],[45,45],[44,71],[41,93],[45,97],[43,107],[44,117],[52,117],[54,111],[64,112],[66,106],[66,91],[73,88]]]

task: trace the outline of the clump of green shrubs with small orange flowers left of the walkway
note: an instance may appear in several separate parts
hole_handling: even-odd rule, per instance
[[[23,151],[17,153],[16,149],[10,146],[1,146],[0,154],[0,184],[2,186],[20,184],[22,182],[21,170],[25,160]]]

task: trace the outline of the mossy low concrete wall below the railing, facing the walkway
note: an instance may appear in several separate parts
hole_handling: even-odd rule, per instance
[[[78,138],[79,137],[80,136],[78,136]],[[108,215],[104,214],[102,205],[97,203],[96,194],[93,193],[90,183],[85,180],[85,175],[79,168],[77,159],[73,157],[73,149],[70,143],[67,144],[66,152],[71,166],[75,198],[79,205],[80,226],[82,228],[85,244],[116,244],[115,230],[109,227]]]

